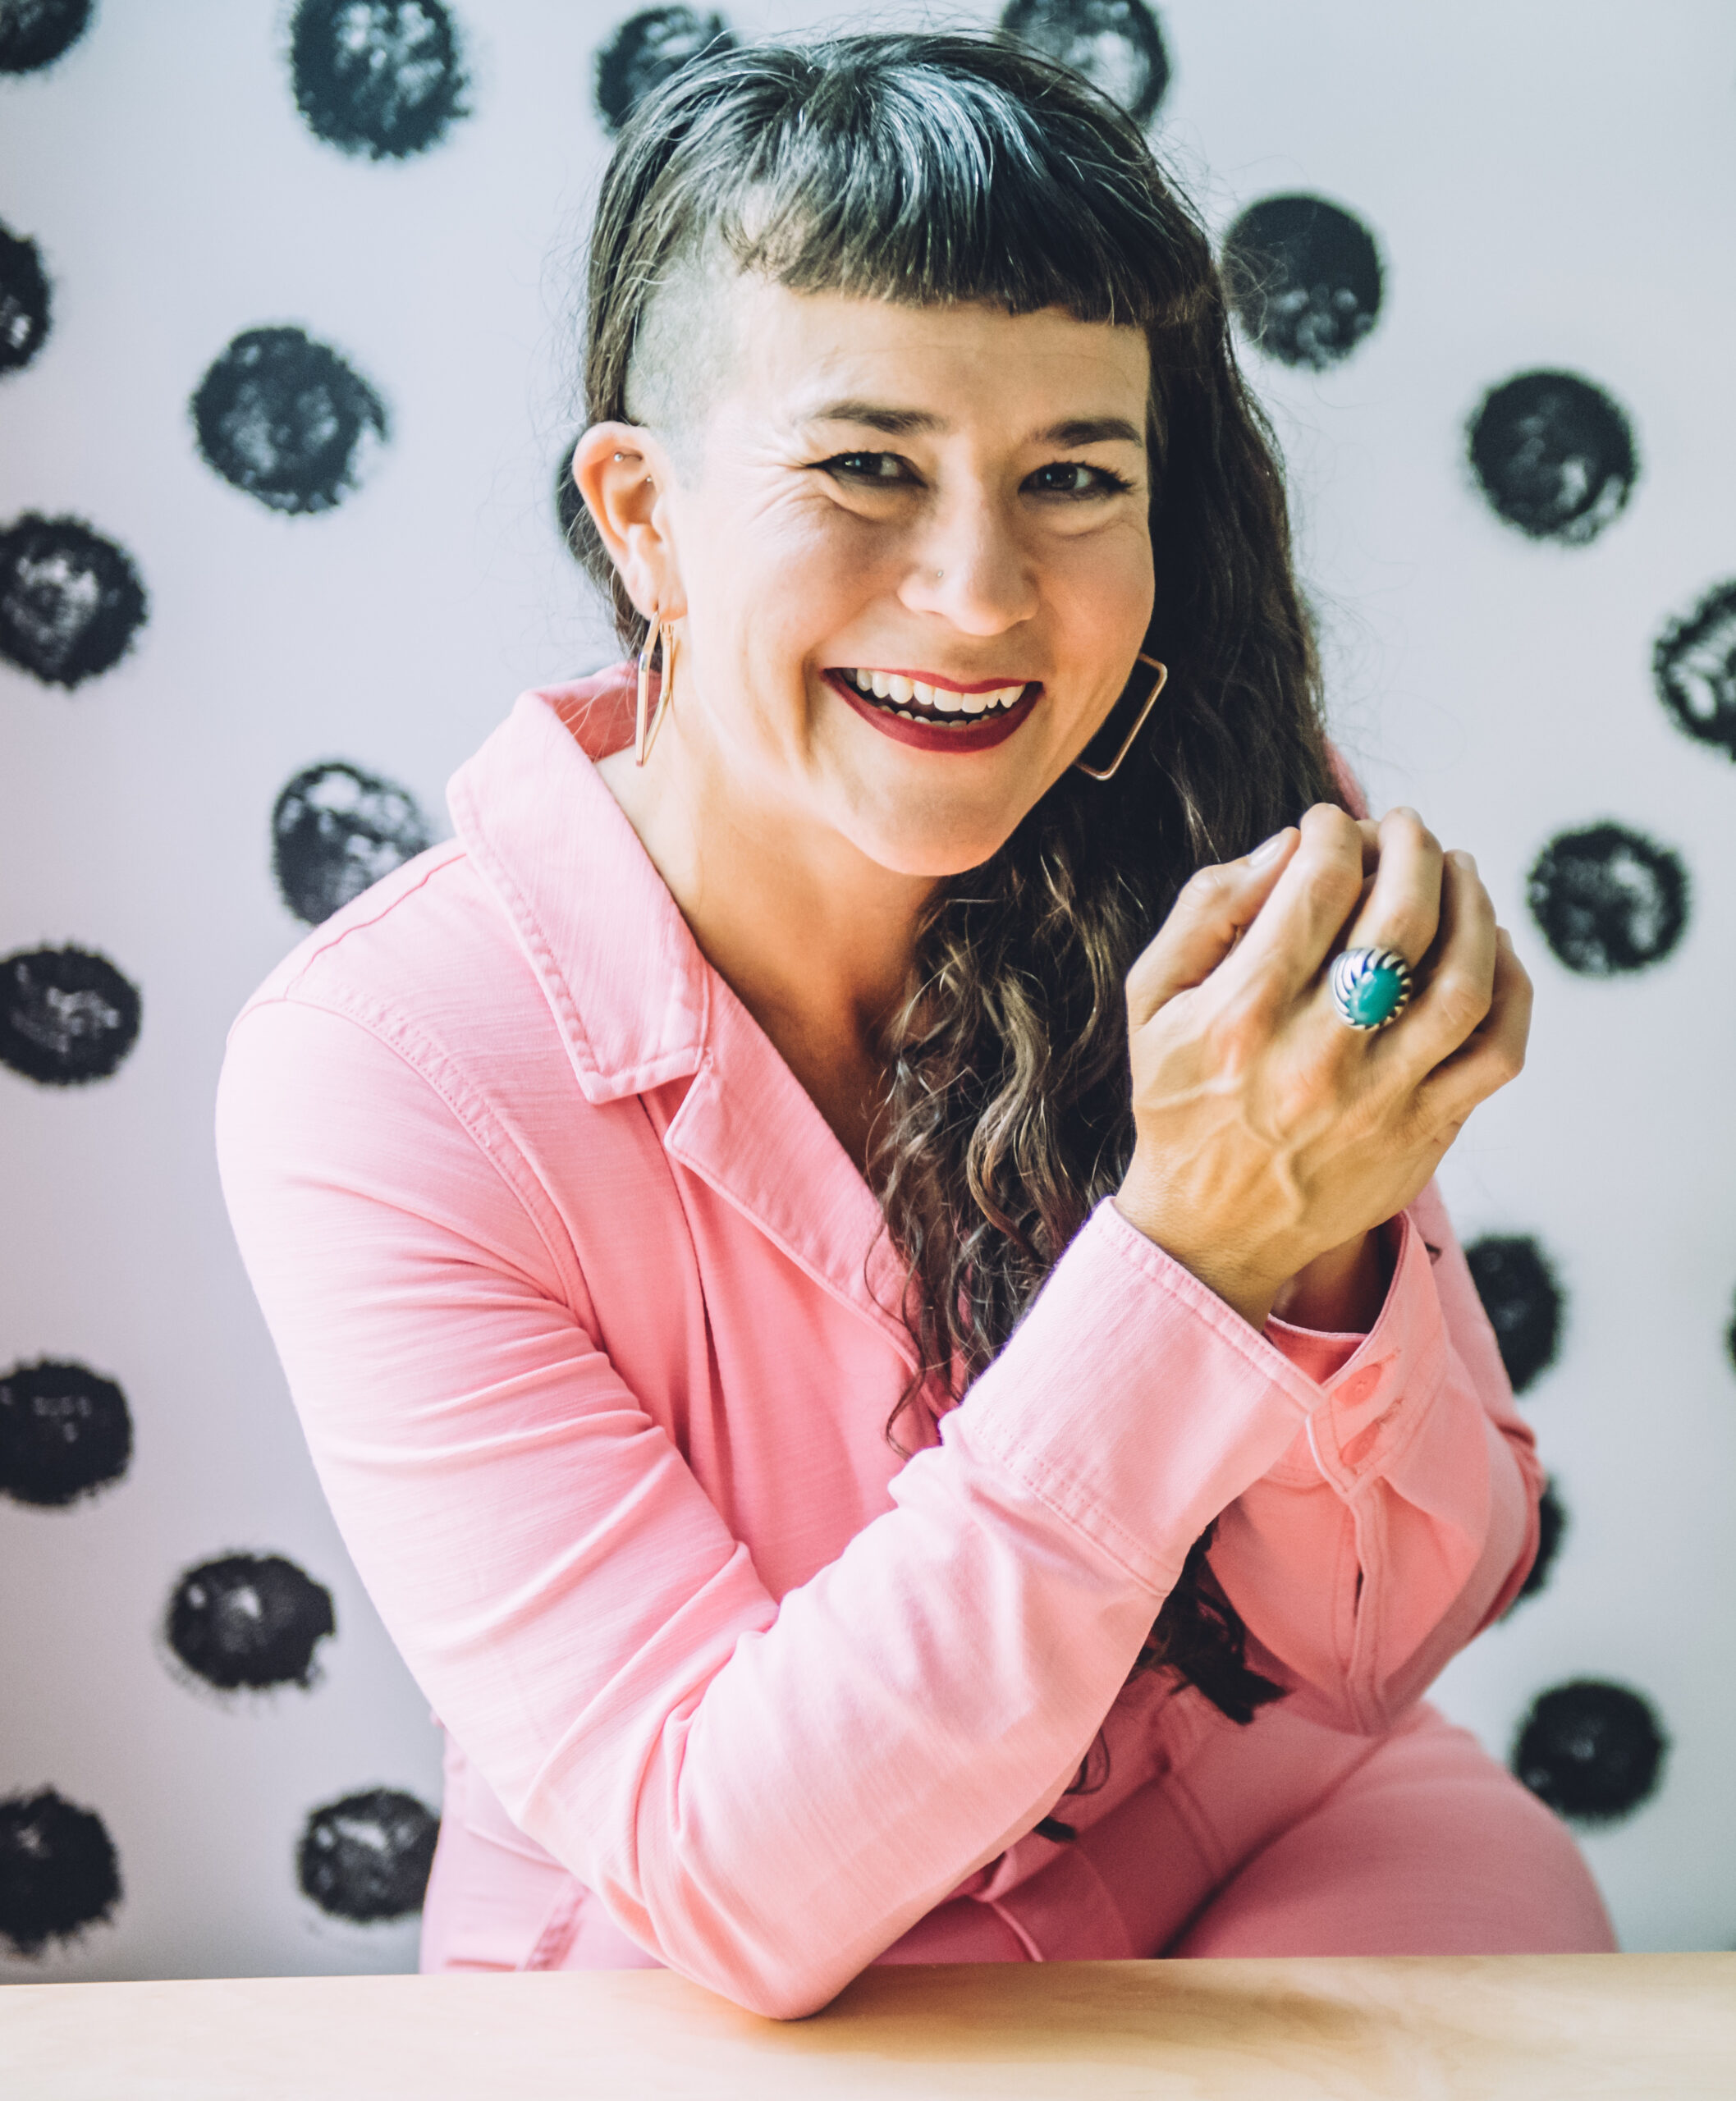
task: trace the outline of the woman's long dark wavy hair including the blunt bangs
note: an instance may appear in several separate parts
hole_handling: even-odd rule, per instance
[[[908,1265],[923,1372],[954,1406],[1133,1153],[1122,981],[1204,861],[1339,800],[1290,569],[1284,481],[1229,340],[1206,233],[1137,124],[1007,40],[851,36],[715,50],[633,116],[588,261],[591,422],[631,420],[628,366],[660,286],[706,252],[799,292],[912,307],[1057,307],[1152,347],[1160,706],[1110,782],[1068,771],[921,922],[885,1032],[870,1174]],[[628,647],[645,624],[588,517],[578,553]],[[1120,710],[1103,737],[1124,735]],[[1089,1416],[1091,1395],[1057,1395]],[[1141,1666],[1248,1721],[1278,1687],[1187,1555]]]

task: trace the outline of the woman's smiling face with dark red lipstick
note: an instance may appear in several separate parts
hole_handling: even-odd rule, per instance
[[[1145,637],[1145,336],[740,277],[717,298],[733,340],[698,429],[675,454],[633,433],[626,462],[656,485],[628,588],[679,616],[662,737],[887,870],[973,868]]]

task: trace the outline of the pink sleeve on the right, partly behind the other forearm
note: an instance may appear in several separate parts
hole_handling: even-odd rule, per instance
[[[1375,1733],[1515,1597],[1543,1469],[1433,1185],[1402,1216],[1368,1336],[1269,1334],[1324,1406],[1223,1513],[1213,1569],[1251,1662],[1305,1712]]]

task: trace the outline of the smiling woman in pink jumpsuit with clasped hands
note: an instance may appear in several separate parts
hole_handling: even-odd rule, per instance
[[[647,674],[519,702],[219,1105],[448,1731],[425,1967],[1608,1948],[1419,1702],[1536,1546],[1429,1187],[1530,987],[1345,809],[1137,130],[971,38],[706,59],[586,389]]]

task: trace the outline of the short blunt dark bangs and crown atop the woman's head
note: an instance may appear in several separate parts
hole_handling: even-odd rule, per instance
[[[599,229],[628,195],[622,246],[652,286],[719,248],[794,292],[1059,307],[1158,332],[1194,319],[1208,269],[1133,120],[990,38],[702,57],[622,132]]]

